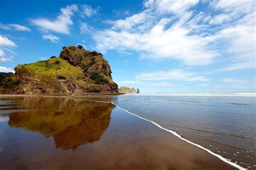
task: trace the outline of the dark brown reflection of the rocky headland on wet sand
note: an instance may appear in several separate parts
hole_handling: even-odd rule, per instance
[[[32,110],[9,114],[9,126],[52,136],[56,147],[64,150],[99,140],[115,107],[56,97],[24,97],[19,101],[23,109]]]

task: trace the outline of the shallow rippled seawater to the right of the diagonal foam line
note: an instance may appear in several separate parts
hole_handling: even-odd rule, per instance
[[[256,169],[256,97],[121,95],[76,97],[111,101],[242,167]]]

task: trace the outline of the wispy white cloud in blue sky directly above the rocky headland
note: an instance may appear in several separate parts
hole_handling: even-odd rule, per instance
[[[35,18],[31,19],[31,23],[38,26],[38,28],[44,32],[53,31],[69,34],[69,26],[73,25],[71,16],[74,15],[74,12],[78,11],[78,6],[77,4],[66,5],[66,7],[61,8],[60,11],[61,14],[58,15],[56,19]]]

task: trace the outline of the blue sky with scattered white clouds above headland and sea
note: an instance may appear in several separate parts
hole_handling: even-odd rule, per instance
[[[255,92],[256,1],[0,1],[0,72],[82,45],[142,93]]]

